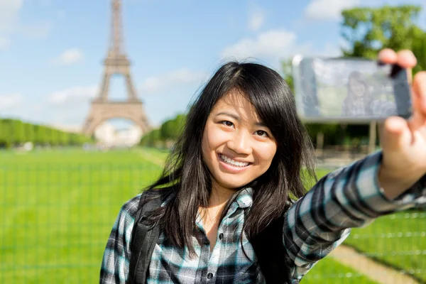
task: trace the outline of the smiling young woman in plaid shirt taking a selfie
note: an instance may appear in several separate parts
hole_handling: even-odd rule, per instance
[[[408,50],[382,50],[379,59],[416,64]],[[190,109],[163,176],[147,191],[171,186],[151,213],[160,236],[146,283],[265,283],[252,240],[280,218],[273,234],[285,248],[288,282],[297,283],[351,227],[426,203],[425,125],[426,73],[420,72],[413,117],[385,121],[383,150],[329,173],[306,193],[303,184],[314,175],[311,146],[288,85],[262,65],[223,65]],[[100,283],[129,279],[139,200],[121,208]],[[275,252],[281,253],[269,251]]]

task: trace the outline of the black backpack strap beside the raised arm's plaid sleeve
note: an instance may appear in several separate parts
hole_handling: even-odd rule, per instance
[[[284,217],[275,219],[250,241],[266,283],[290,284],[290,269],[285,261],[283,225]]]

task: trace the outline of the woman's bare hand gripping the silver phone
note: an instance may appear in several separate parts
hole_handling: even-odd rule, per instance
[[[417,64],[410,50],[381,50],[378,59],[407,69]],[[383,161],[378,181],[391,200],[426,174],[426,72],[415,75],[411,98],[411,118],[392,116],[386,119],[381,133]]]

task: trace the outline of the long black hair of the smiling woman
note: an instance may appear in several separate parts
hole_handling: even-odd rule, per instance
[[[297,117],[295,99],[285,80],[278,72],[256,63],[222,65],[190,108],[163,174],[148,187],[148,190],[173,188],[165,206],[153,212],[151,219],[160,222],[173,245],[187,246],[190,255],[195,254],[191,238],[197,236],[197,213],[200,207],[207,207],[212,187],[212,176],[202,156],[204,126],[214,105],[233,90],[238,90],[253,104],[277,142],[270,168],[243,187],[253,188],[253,204],[244,222],[249,239],[282,216],[291,200],[305,194],[305,180],[316,180],[312,143]],[[239,190],[236,189],[234,197]]]

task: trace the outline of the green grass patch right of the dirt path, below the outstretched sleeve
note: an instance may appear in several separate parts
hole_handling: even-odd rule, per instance
[[[318,170],[322,177],[328,172]],[[426,283],[426,211],[404,211],[354,228],[344,244]]]

